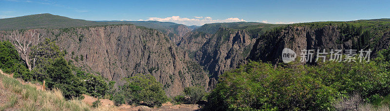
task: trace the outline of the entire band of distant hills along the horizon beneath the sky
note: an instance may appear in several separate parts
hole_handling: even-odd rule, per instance
[[[198,32],[215,33],[220,27],[231,29],[250,29],[250,28],[265,28],[280,26],[278,24],[266,24],[258,22],[233,22],[233,23],[212,23],[203,26],[185,26],[173,22],[159,21],[89,21],[82,19],[73,19],[65,16],[57,16],[52,14],[37,14],[28,16],[19,16],[13,18],[0,19],[0,30],[15,30],[15,29],[37,29],[37,28],[66,28],[66,27],[82,27],[82,26],[99,26],[99,25],[117,25],[117,24],[133,24],[146,28],[157,29],[161,32],[169,34],[182,34],[180,30],[183,27],[185,30],[196,30]],[[178,26],[180,26],[179,29]]]

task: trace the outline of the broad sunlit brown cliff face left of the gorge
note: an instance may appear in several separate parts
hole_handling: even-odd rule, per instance
[[[156,30],[119,25],[41,29],[39,33],[46,33],[44,37],[56,40],[60,48],[66,49],[66,59],[83,57],[75,64],[119,84],[122,78],[142,73],[153,75],[167,95],[178,95],[188,86],[208,86],[208,76],[198,70],[199,64]]]

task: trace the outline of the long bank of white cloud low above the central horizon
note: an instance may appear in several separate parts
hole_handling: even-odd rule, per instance
[[[210,16],[207,16],[207,17],[195,16],[195,18],[186,18],[186,17],[180,17],[180,16],[172,16],[172,17],[166,17],[166,18],[149,17],[147,20],[139,19],[138,21],[149,21],[149,20],[161,21],[161,22],[175,22],[175,23],[184,24],[184,25],[197,25],[197,26],[201,26],[201,25],[204,25],[207,23],[245,21],[244,19],[235,18],[235,17],[214,20]]]

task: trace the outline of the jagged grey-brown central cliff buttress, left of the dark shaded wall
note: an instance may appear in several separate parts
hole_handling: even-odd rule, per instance
[[[209,71],[210,88],[215,87],[218,76],[224,71],[246,63],[245,58],[249,55],[254,41],[255,39],[245,30],[226,28],[220,28],[207,39],[202,47],[195,52],[194,59]]]

